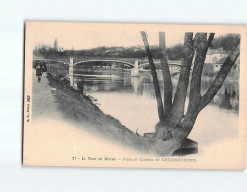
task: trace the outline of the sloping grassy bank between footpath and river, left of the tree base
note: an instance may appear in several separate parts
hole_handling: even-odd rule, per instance
[[[102,138],[131,147],[142,153],[151,153],[153,142],[139,136],[123,126],[117,119],[104,114],[90,97],[68,86],[57,75],[48,73],[49,85],[55,88],[59,109],[74,120],[94,127],[94,132]],[[92,143],[93,144],[93,143]]]

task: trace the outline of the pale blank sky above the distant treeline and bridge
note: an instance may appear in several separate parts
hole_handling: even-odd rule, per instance
[[[149,45],[158,45],[158,32],[147,32]],[[143,46],[140,32],[133,31],[67,31],[67,32],[47,32],[39,31],[34,33],[34,47],[39,44],[53,46],[55,39],[58,41],[58,47],[64,49],[90,49],[99,46]],[[166,33],[166,46],[183,44],[184,33]]]

